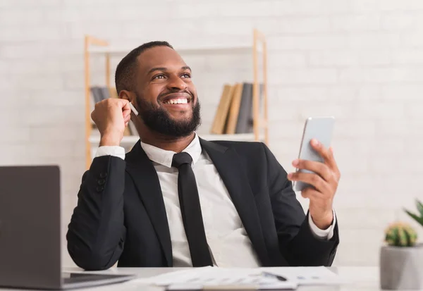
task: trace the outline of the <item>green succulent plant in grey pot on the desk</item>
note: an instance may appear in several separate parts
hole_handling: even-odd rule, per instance
[[[423,204],[418,213],[405,212],[423,226]],[[417,233],[407,223],[389,225],[387,245],[380,252],[380,283],[384,290],[423,290],[423,244],[416,244]]]

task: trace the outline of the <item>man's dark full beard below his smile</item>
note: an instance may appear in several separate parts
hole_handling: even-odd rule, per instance
[[[161,135],[171,138],[187,137],[197,130],[201,124],[200,101],[198,99],[195,104],[191,101],[192,116],[186,120],[174,120],[169,116],[166,109],[155,106],[138,95],[136,95],[136,102],[138,111],[140,111],[139,116],[147,128]]]

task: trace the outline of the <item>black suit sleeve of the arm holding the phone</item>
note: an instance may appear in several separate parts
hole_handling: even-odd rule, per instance
[[[281,254],[290,266],[331,266],[339,243],[337,223],[330,240],[321,239],[312,233],[309,213],[304,213],[286,171],[269,148],[265,144],[263,146]]]

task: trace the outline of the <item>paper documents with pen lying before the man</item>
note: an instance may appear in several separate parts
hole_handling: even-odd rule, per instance
[[[137,279],[166,290],[293,290],[298,285],[339,285],[341,279],[325,267],[188,268]]]

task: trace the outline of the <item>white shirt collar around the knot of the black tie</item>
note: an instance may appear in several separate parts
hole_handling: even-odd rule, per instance
[[[159,147],[154,147],[151,144],[145,144],[144,142],[141,142],[141,147],[144,149],[145,154],[147,154],[148,159],[171,168],[173,155],[176,154],[175,151],[166,151],[165,149],[160,149]],[[200,139],[197,134],[195,134],[194,140],[192,140],[192,142],[188,144],[188,147],[183,149],[183,151],[190,154],[192,158],[192,165],[197,163],[202,151]]]

